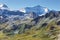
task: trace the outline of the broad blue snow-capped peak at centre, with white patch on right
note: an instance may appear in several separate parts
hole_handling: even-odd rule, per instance
[[[42,15],[42,14],[48,13],[49,9],[46,8],[46,7],[42,7],[40,5],[37,5],[37,6],[34,6],[34,7],[26,7],[24,9],[24,11],[26,13],[34,12],[37,15]]]

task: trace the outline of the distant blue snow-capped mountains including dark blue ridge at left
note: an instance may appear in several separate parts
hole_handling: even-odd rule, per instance
[[[25,12],[24,12],[25,11]],[[0,4],[0,14],[5,15],[25,15],[34,12],[36,15],[42,15],[49,12],[49,9],[42,6],[35,6],[35,7],[26,7],[20,10],[10,10],[7,5]]]

